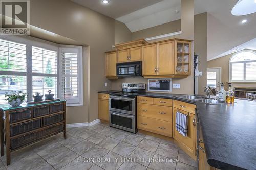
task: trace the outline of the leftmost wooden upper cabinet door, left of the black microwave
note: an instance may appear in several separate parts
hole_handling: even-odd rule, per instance
[[[117,53],[107,53],[106,54],[106,76],[116,76],[116,58]]]

